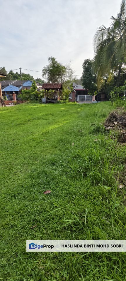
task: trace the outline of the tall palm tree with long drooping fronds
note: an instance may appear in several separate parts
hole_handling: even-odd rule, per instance
[[[102,85],[103,76],[108,82],[117,72],[119,86],[122,65],[126,63],[126,1],[121,1],[120,11],[116,18],[111,17],[110,27],[100,26],[94,36],[94,71],[97,73],[98,88]]]

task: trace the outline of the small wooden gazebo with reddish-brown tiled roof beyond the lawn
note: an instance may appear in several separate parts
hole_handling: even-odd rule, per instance
[[[48,91],[55,90],[57,91],[57,100],[60,99],[60,94],[62,91],[62,84],[60,83],[44,83],[42,85],[42,89],[45,90],[45,98],[46,98],[46,91],[47,91],[47,99],[48,99]]]

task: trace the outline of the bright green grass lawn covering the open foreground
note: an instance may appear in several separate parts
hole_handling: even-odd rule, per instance
[[[109,102],[0,109],[0,280],[126,280],[123,252],[26,252],[26,239],[126,238],[126,146],[104,131],[110,111]]]

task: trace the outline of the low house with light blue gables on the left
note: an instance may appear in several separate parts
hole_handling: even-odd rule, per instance
[[[2,94],[3,96],[6,96],[9,99],[9,95],[12,95],[13,92],[16,94],[16,96],[21,93],[21,90],[23,89],[30,89],[32,86],[33,81],[30,80],[3,80],[0,82],[1,88],[2,88]],[[40,91],[42,84],[35,82],[37,86],[37,90]],[[23,84],[23,88],[22,88]]]

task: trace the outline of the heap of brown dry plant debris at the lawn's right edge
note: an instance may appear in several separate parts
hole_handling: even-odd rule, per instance
[[[115,130],[119,133],[119,141],[126,143],[126,112],[113,111],[109,114],[104,124],[107,130]]]

